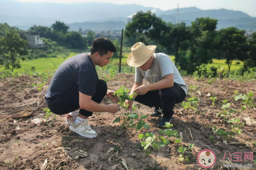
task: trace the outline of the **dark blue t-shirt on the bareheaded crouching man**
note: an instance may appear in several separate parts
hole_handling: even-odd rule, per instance
[[[78,88],[85,95],[93,96],[99,78],[89,54],[82,53],[63,62],[45,93],[47,104],[54,104],[71,89]]]

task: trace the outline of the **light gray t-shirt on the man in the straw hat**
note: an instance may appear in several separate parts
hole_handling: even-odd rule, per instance
[[[140,67],[135,69],[135,81],[142,82],[145,78],[149,83],[155,83],[163,79],[168,74],[173,74],[174,82],[177,83],[187,94],[187,85],[182,79],[178,69],[171,61],[168,55],[163,53],[154,53],[154,61],[152,67],[143,71]]]

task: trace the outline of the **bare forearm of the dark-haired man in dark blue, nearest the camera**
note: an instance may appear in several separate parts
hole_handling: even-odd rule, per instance
[[[85,95],[79,92],[79,106],[81,109],[85,109],[89,112],[111,112],[115,113],[118,110],[117,105],[109,104],[103,105],[98,104],[92,100],[92,96]]]

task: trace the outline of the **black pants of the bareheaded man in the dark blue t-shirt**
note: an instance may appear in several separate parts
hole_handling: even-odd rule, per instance
[[[92,100],[101,103],[101,100],[106,95],[108,90],[107,83],[104,80],[99,80],[96,86],[96,93],[92,97]],[[65,95],[59,97],[59,100],[54,104],[48,105],[50,111],[57,114],[57,115],[64,115],[69,112],[73,112],[80,108],[79,106],[79,90],[78,86],[74,89],[70,90]],[[83,116],[92,116],[93,112],[89,112],[84,109],[80,109],[79,112]]]

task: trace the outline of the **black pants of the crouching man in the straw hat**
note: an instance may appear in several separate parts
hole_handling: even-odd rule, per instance
[[[149,107],[159,107],[163,109],[163,114],[172,117],[174,105],[185,100],[185,91],[176,83],[170,88],[148,91],[144,95],[138,95],[135,101]]]

